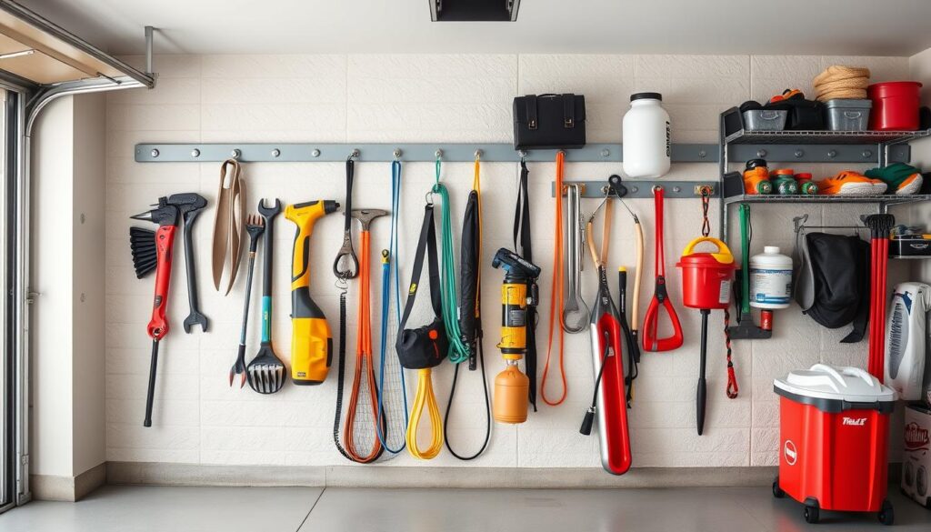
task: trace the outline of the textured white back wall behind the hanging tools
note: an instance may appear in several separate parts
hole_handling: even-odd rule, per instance
[[[212,209],[196,226],[198,273],[202,302],[211,319],[208,334],[184,334],[187,313],[182,261],[175,274],[171,315],[175,329],[162,346],[155,427],[142,428],[149,341],[152,280],[136,280],[129,259],[128,215],[142,211],[160,195],[196,190],[209,199],[216,193],[217,164],[136,164],[133,144],[140,142],[510,142],[511,98],[521,93],[573,91],[587,96],[589,142],[617,142],[627,97],[638,90],[664,95],[677,143],[715,142],[720,112],[749,98],[765,100],[787,87],[810,90],[810,80],[824,67],[843,62],[869,66],[874,79],[908,75],[908,58],[837,58],[768,56],[594,56],[594,55],[363,55],[363,56],[166,56],[157,58],[159,86],[152,91],[116,92],[108,96],[107,166],[107,459],[205,464],[344,464],[331,443],[335,378],[318,388],[286,386],[263,397],[249,389],[230,389],[226,378],[236,355],[245,274],[228,297],[215,293],[209,277],[209,232]],[[140,61],[140,58],[130,58]],[[840,170],[806,165],[797,170],[816,175]],[[509,245],[518,171],[513,164],[484,164],[485,250]],[[570,164],[566,179],[605,179],[620,164]],[[452,214],[459,225],[471,164],[444,165],[451,188]],[[360,164],[356,207],[388,208],[389,167]],[[249,164],[245,166],[248,205],[261,197],[288,202],[344,196],[344,165]],[[712,164],[674,165],[669,179],[717,179]],[[410,252],[421,222],[424,193],[433,179],[430,163],[404,165],[401,249],[403,281],[410,275]],[[540,365],[546,357],[546,322],[552,261],[552,164],[533,164],[533,231],[537,260],[545,267],[540,280]],[[653,203],[635,200],[648,237],[653,234]],[[594,208],[586,200],[584,211]],[[713,204],[712,209],[717,205]],[[811,207],[754,208],[757,229],[753,251],[763,243],[790,251],[791,217],[811,215],[811,222],[854,220],[850,209]],[[673,300],[679,304],[675,261],[697,236],[697,201],[668,202],[667,266]],[[712,219],[718,230],[717,219]],[[330,271],[341,243],[342,218],[331,215],[317,223],[312,241],[312,293],[335,329],[337,291]],[[385,246],[388,224],[373,227],[373,249]],[[610,256],[614,266],[633,262],[628,218],[615,216]],[[276,321],[277,352],[287,358],[290,347],[288,275],[292,225],[277,225]],[[735,252],[737,250],[735,249]],[[645,309],[652,292],[652,245],[647,250]],[[486,256],[483,308],[491,375],[502,364],[494,348],[500,310],[501,273]],[[583,280],[591,299],[592,268]],[[897,269],[890,266],[895,279]],[[378,282],[375,282],[378,293]],[[355,287],[353,287],[355,288]],[[358,293],[350,290],[350,302]],[[355,319],[350,312],[350,353],[355,346]],[[378,323],[375,311],[373,323]],[[774,339],[735,342],[735,365],[741,386],[734,401],[724,396],[722,334],[710,334],[708,422],[706,435],[695,435],[695,378],[698,359],[698,313],[682,309],[686,344],[669,353],[647,353],[637,381],[637,402],[630,414],[635,466],[749,466],[776,463],[777,402],[773,377],[816,361],[865,365],[866,342],[842,346],[842,332],[822,329],[797,307],[776,313]],[[252,323],[257,324],[257,313]],[[721,314],[712,317],[715,329]],[[256,348],[250,334],[250,353]],[[375,331],[375,342],[378,332]],[[496,425],[492,445],[473,462],[459,462],[443,452],[438,465],[504,467],[598,467],[597,443],[578,434],[591,393],[591,357],[585,334],[567,335],[566,372],[569,398],[558,407],[541,404],[527,423]],[[351,370],[350,364],[349,369]],[[333,372],[335,373],[335,372]],[[438,400],[445,405],[452,368],[435,372]],[[464,450],[482,434],[476,375],[466,376],[459,408],[452,416],[452,435]],[[554,380],[551,384],[557,384]],[[558,390],[553,389],[555,394]],[[466,396],[473,394],[468,399]],[[399,457],[391,465],[412,465]]]

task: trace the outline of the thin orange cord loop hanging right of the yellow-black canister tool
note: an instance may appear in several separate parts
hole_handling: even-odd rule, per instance
[[[550,290],[551,299],[549,301],[549,333],[546,336],[546,365],[543,367],[543,379],[540,381],[540,397],[543,402],[550,406],[556,406],[566,400],[569,392],[569,386],[566,384],[566,369],[563,361],[563,348],[565,346],[565,334],[562,330],[562,309],[565,305],[563,302],[563,283],[565,280],[565,266],[562,257],[562,174],[565,167],[566,154],[559,152],[556,154],[556,230],[553,232],[555,242],[553,244],[553,283]],[[559,335],[560,346],[560,380],[562,381],[562,394],[556,401],[550,401],[546,398],[546,377],[549,375],[549,359],[553,351],[553,331]]]

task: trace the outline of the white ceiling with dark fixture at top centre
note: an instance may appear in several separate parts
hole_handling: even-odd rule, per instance
[[[522,0],[517,22],[431,22],[429,0],[19,0],[113,53],[912,55],[928,0]],[[502,0],[504,1],[504,0]]]

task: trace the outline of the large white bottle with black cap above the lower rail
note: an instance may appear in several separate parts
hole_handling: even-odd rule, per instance
[[[672,140],[669,114],[663,109],[663,95],[638,92],[630,95],[630,109],[624,115],[624,173],[627,177],[654,179],[669,171]]]

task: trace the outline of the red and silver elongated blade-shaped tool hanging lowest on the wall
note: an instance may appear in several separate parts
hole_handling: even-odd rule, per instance
[[[615,316],[605,312],[598,320],[598,352],[604,352],[605,335],[614,351],[608,357],[601,372],[601,407],[600,438],[607,456],[601,457],[605,470],[621,475],[630,469],[630,436],[627,430],[627,390],[624,388],[624,356],[621,350],[621,323]]]

